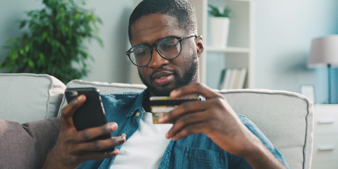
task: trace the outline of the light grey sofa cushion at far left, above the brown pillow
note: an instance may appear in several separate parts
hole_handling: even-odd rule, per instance
[[[56,117],[65,89],[47,74],[0,73],[0,119],[26,123]]]

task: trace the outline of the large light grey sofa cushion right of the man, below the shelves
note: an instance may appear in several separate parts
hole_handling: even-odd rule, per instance
[[[313,105],[287,91],[243,89],[220,91],[236,113],[246,116],[283,155],[290,168],[310,168]]]

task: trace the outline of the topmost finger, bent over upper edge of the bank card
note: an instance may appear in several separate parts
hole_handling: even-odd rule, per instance
[[[213,98],[213,97],[221,97],[223,96],[217,92],[214,92],[205,84],[201,83],[193,83],[187,86],[183,86],[181,88],[175,89],[170,92],[170,97],[182,97],[185,95],[190,94],[199,94],[206,99]]]

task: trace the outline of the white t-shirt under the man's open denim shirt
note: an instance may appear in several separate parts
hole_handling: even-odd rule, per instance
[[[139,129],[121,147],[112,168],[158,168],[170,139],[165,137],[172,124],[153,124],[145,112]]]

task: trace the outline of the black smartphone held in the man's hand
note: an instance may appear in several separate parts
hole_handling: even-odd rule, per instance
[[[101,96],[99,90],[96,88],[67,88],[65,91],[65,96],[67,102],[71,102],[74,98],[79,95],[85,95],[86,101],[75,111],[73,115],[74,126],[78,131],[98,127],[107,123],[107,118],[105,116],[103,103],[101,101]],[[93,140],[103,140],[110,138],[110,134],[102,135],[96,137]],[[115,147],[107,148],[101,150],[101,152],[111,152],[114,151]]]

